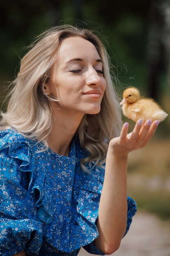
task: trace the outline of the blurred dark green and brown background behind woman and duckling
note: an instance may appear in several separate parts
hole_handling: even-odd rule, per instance
[[[118,77],[120,97],[132,85],[170,112],[169,0],[16,0],[0,8],[1,104],[18,73],[25,47],[49,27],[62,24],[101,34]],[[108,43],[106,43],[108,42]],[[5,109],[5,104],[2,110]],[[124,119],[124,118],[123,118]],[[126,121],[124,119],[124,121]],[[130,122],[130,129],[134,123]],[[139,209],[170,220],[170,117],[143,149],[130,154],[128,193]]]

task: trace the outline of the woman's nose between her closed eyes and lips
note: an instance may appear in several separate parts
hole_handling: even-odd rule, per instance
[[[87,75],[86,84],[88,86],[90,86],[90,85],[97,85],[97,86],[101,85],[101,78],[103,76],[99,75],[93,67],[89,68],[86,75]]]

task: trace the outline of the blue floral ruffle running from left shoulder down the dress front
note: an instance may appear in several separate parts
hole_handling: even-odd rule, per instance
[[[51,190],[45,191],[45,173],[36,171],[36,141],[27,139],[14,130],[4,130],[0,139],[0,150],[6,148],[10,157],[20,160],[20,185],[29,191],[35,199],[40,220],[51,222],[54,205],[51,202]],[[25,182],[27,180],[27,182]]]

